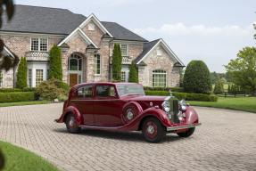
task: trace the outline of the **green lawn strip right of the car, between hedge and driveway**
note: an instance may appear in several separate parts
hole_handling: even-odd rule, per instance
[[[187,101],[191,106],[205,106],[230,110],[244,110],[256,113],[256,97],[219,97],[218,102]]]

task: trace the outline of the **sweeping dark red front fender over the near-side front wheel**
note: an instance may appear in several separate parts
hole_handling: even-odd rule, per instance
[[[163,110],[149,108],[141,112],[141,114],[136,116],[136,118],[130,121],[127,125],[120,127],[119,131],[137,131],[139,130],[139,126],[143,119],[150,116],[158,118],[164,126],[172,126],[169,121],[168,115]]]

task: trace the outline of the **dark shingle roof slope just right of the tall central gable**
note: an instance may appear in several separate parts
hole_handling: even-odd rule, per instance
[[[137,41],[148,42],[145,38],[136,35],[135,33],[131,32],[127,28],[124,28],[124,27],[120,26],[116,22],[102,21],[102,24],[103,24],[104,28],[109,30],[109,32],[111,33],[111,35],[113,37],[115,37],[115,39],[119,39],[119,40],[137,40]]]

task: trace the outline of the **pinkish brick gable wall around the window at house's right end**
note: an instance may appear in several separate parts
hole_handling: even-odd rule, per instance
[[[162,55],[157,55],[157,50],[162,50]],[[153,70],[164,69],[167,71],[167,86],[179,86],[179,68],[173,67],[175,61],[171,58],[161,45],[158,45],[144,61],[147,66],[138,68],[139,82],[145,86],[153,85]]]

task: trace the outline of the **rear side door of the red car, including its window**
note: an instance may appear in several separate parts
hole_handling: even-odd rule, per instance
[[[76,104],[85,125],[94,125],[95,122],[93,99],[93,85],[78,88]]]

